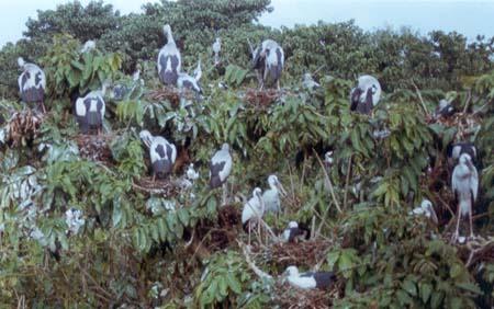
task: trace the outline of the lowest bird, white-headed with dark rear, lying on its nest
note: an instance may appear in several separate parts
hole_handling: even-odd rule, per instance
[[[337,279],[333,272],[307,272],[301,274],[296,266],[287,267],[284,276],[292,286],[303,289],[327,289]]]

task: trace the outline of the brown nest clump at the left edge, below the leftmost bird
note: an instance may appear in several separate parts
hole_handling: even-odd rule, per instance
[[[43,115],[33,113],[27,108],[14,113],[7,124],[7,140],[18,147],[25,142],[31,142],[40,135],[40,127],[43,123]]]

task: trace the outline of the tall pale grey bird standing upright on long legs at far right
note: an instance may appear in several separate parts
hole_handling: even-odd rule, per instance
[[[460,156],[460,160],[452,173],[451,187],[454,193],[454,199],[458,203],[457,229],[452,239],[453,241],[458,239],[461,216],[467,215],[470,221],[470,237],[473,238],[472,208],[479,193],[479,173],[469,153]]]

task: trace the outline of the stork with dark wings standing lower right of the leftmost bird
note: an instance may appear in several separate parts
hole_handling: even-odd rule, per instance
[[[94,90],[79,98],[76,101],[76,119],[79,128],[83,134],[88,134],[90,129],[97,129],[101,133],[104,119],[104,94],[106,93],[109,82],[103,82],[101,90]]]

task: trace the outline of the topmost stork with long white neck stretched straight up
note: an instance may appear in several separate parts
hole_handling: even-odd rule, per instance
[[[162,83],[176,85],[182,67],[182,58],[175,43],[170,25],[166,24],[162,30],[167,37],[167,44],[159,50],[158,75]]]

